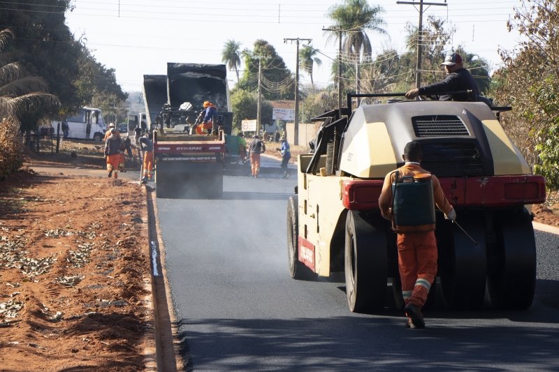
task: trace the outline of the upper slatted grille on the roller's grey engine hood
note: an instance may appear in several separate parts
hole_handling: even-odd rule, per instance
[[[470,135],[465,124],[454,115],[413,117],[416,137],[456,137]]]

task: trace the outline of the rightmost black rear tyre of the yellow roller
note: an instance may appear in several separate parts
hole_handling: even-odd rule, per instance
[[[536,244],[530,216],[502,214],[495,222],[498,244],[488,274],[491,303],[507,310],[528,308],[536,285]]]

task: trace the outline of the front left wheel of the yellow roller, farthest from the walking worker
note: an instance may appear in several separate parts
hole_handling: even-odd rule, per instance
[[[299,261],[299,225],[298,225],[298,201],[296,197],[290,196],[287,200],[287,262],[289,263],[289,275],[294,279],[310,279],[312,271]]]

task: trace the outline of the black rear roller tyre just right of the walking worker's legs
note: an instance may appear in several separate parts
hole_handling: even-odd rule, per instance
[[[442,297],[447,308],[474,310],[484,304],[486,289],[486,244],[484,221],[480,218],[460,216],[460,226],[477,243],[465,235],[454,223],[444,222],[442,228],[447,238],[437,238],[439,274]],[[444,228],[443,228],[444,227]]]

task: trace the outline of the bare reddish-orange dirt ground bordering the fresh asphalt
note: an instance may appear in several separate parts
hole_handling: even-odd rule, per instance
[[[0,181],[1,371],[142,371],[154,358],[145,191],[29,168],[103,169],[97,147],[29,153]],[[533,211],[558,227],[558,193]]]

